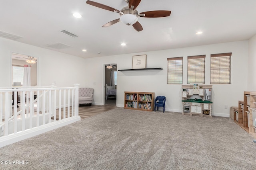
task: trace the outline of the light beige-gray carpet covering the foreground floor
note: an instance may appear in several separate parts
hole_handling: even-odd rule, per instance
[[[121,107],[0,148],[0,169],[253,170],[256,144],[231,119]]]

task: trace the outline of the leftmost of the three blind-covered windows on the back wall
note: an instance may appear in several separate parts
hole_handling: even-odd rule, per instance
[[[167,84],[182,84],[183,57],[168,58]]]

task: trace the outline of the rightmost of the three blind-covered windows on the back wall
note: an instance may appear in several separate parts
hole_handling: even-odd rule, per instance
[[[230,84],[232,53],[211,55],[211,84]]]

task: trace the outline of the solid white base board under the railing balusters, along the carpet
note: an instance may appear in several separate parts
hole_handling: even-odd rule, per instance
[[[10,145],[12,143],[16,143],[18,141],[22,141],[24,139],[28,139],[30,137],[34,137],[40,135],[42,133],[51,131],[53,129],[57,129],[59,127],[74,123],[76,121],[81,120],[80,116],[77,117],[70,117],[67,119],[62,119],[60,121],[52,122],[50,124],[42,125],[40,127],[34,127],[32,129],[28,129],[26,131],[0,137],[0,148],[6,145]]]

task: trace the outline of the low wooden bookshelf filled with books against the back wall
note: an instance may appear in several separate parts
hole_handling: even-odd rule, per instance
[[[124,92],[124,108],[144,111],[154,110],[155,93]]]

